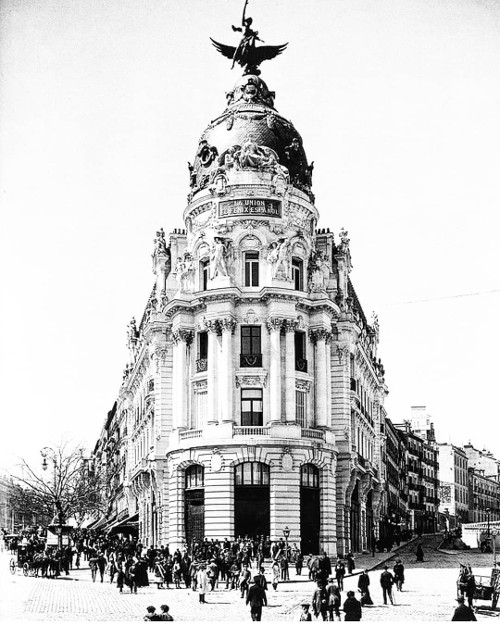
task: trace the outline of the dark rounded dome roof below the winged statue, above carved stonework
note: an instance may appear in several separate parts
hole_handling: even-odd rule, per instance
[[[251,141],[258,148],[270,149],[282,168],[288,170],[290,183],[311,193],[312,166],[293,124],[274,108],[274,92],[255,75],[243,76],[227,94],[228,106],[212,121],[201,136],[191,169],[193,191],[212,182],[231,154]],[[269,150],[267,150],[269,152]]]

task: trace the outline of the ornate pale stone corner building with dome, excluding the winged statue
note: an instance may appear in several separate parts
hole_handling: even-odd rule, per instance
[[[378,322],[347,232],[316,227],[299,133],[250,69],[199,140],[185,228],[157,232],[128,327],[119,512],[174,549],[288,527],[303,552],[366,550],[383,491]]]

